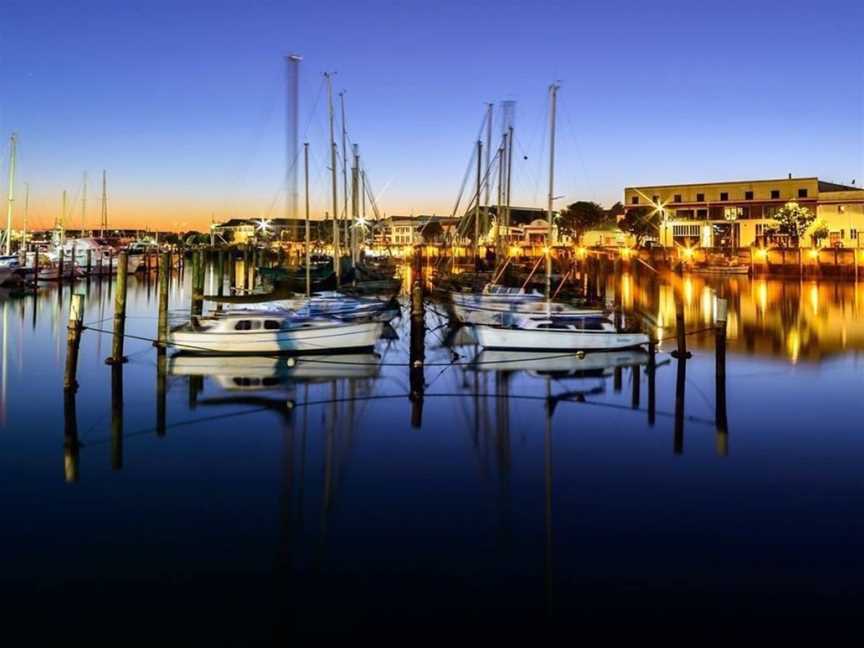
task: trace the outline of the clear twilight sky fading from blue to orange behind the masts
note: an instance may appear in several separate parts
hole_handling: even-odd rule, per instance
[[[514,202],[544,205],[554,80],[565,202],[789,172],[860,184],[862,25],[860,1],[5,0],[0,133],[19,133],[16,186],[23,198],[30,183],[36,226],[84,170],[95,198],[102,168],[118,226],[280,216],[283,56],[297,52],[316,215],[329,202],[327,70],[388,214],[449,213],[484,103],[508,99]]]

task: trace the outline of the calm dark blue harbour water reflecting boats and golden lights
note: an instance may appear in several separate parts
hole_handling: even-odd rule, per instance
[[[130,281],[127,331],[151,338],[156,286]],[[676,417],[675,282],[692,330],[710,326],[717,294],[729,300],[725,432],[709,332],[689,338]],[[422,404],[407,317],[347,361],[169,358],[164,408],[156,353],[131,339],[112,399],[110,336],[94,330],[111,328],[111,287],[79,283],[92,328],[77,451],[62,390],[70,289],[5,296],[7,631],[215,644],[408,627],[851,633],[864,602],[864,285],[617,287],[628,318],[665,339],[653,416],[643,357],[474,364],[440,305]],[[173,284],[178,316],[187,300]]]

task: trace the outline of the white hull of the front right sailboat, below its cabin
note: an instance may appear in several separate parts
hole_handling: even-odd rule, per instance
[[[564,331],[476,326],[477,341],[485,349],[529,351],[597,351],[632,349],[648,344],[642,333]]]

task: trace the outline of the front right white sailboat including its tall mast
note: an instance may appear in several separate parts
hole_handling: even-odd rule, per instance
[[[610,318],[597,312],[567,312],[553,306],[552,292],[552,208],[555,183],[555,108],[558,85],[549,86],[549,193],[547,203],[546,291],[540,312],[505,314],[496,326],[475,327],[478,343],[484,349],[524,349],[551,351],[588,351],[629,349],[648,343],[642,333],[617,329]],[[545,310],[545,312],[543,312]],[[558,312],[555,312],[558,310]]]

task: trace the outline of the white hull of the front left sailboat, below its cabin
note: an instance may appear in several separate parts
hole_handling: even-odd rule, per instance
[[[212,332],[183,326],[171,331],[168,343],[189,353],[327,353],[368,349],[384,329],[379,322],[298,324],[288,330]]]

